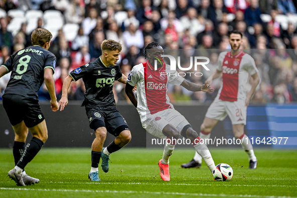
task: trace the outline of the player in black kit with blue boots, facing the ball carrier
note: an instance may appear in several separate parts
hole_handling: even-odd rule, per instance
[[[122,74],[117,64],[122,45],[114,40],[104,40],[101,44],[102,56],[94,61],[82,65],[65,78],[62,87],[62,97],[59,101],[61,111],[67,105],[67,90],[72,80],[82,78],[85,85],[84,101],[89,127],[95,131],[92,143],[91,170],[88,177],[91,181],[100,181],[98,164],[102,158],[102,169],[109,171],[109,155],[120,150],[131,140],[131,133],[125,119],[116,108],[113,94],[114,81],[126,84],[127,77]],[[107,132],[116,139],[103,148]]]

